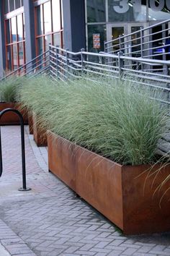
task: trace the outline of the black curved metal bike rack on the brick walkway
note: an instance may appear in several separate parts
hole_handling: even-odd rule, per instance
[[[21,143],[22,143],[22,187],[19,188],[19,191],[28,191],[31,190],[29,187],[26,186],[26,169],[25,169],[25,150],[24,150],[24,119],[22,117],[22,114],[14,108],[6,108],[3,111],[0,112],[0,121],[1,116],[3,116],[7,112],[14,112],[19,116],[19,121],[21,125]],[[1,124],[1,123],[0,123]],[[0,126],[0,177],[3,171],[2,166],[2,154],[1,154],[1,126]]]

